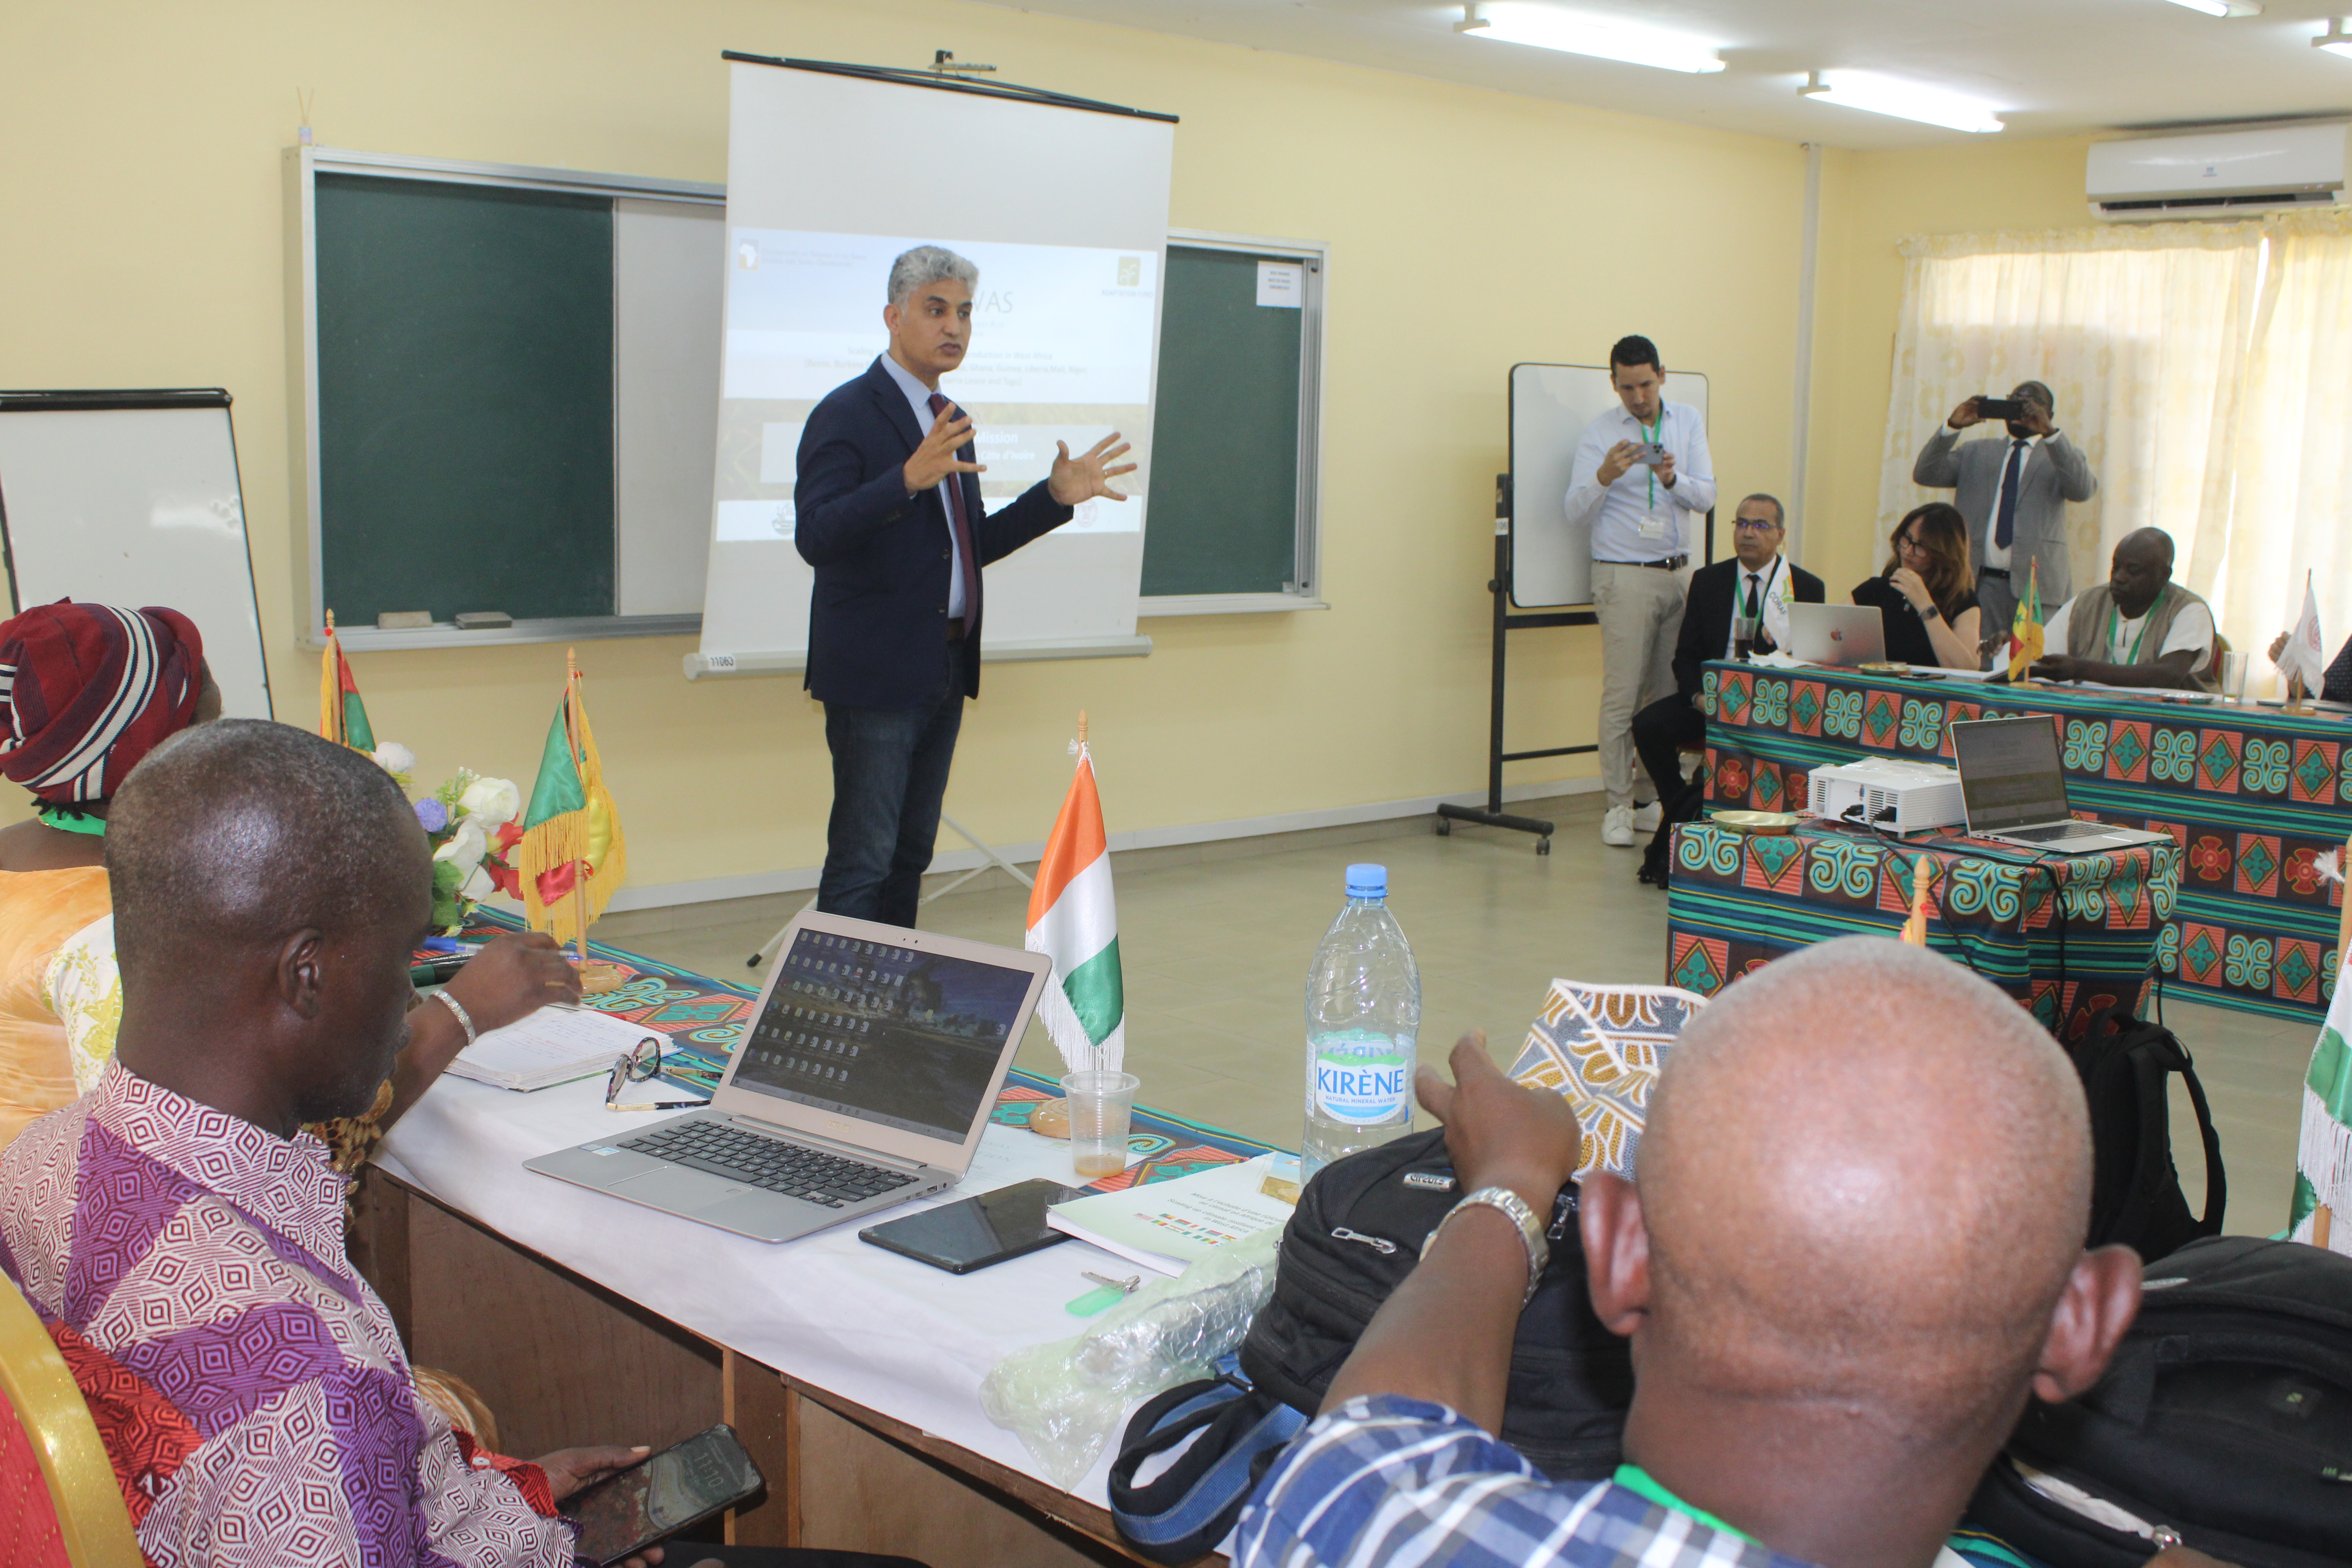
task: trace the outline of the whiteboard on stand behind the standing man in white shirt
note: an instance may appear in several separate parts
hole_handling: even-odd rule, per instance
[[[1708,423],[1705,376],[1670,369],[1665,400]],[[1519,609],[1592,604],[1592,529],[1569,522],[1569,468],[1585,425],[1616,407],[1604,364],[1510,367],[1510,602]],[[1684,548],[1703,557],[1708,541]]]

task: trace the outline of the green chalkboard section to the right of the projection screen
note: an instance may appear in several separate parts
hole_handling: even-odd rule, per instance
[[[1258,256],[1167,256],[1143,592],[1282,592],[1298,576],[1305,313],[1258,303]]]

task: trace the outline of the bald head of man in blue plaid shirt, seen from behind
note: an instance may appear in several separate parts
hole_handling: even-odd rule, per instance
[[[1903,1429],[1985,1418],[2082,1258],[2091,1138],[2058,1044],[1950,959],[1806,947],[1684,1030],[1642,1138],[1644,1359]]]

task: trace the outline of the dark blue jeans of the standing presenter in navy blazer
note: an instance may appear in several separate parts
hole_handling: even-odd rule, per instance
[[[833,820],[816,907],[826,914],[913,926],[922,872],[938,839],[938,804],[964,724],[969,642],[950,642],[938,691],[922,708],[826,703]]]

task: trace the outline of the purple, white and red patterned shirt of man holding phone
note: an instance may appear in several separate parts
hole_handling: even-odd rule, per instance
[[[546,1472],[421,1401],[343,1255],[343,1180],[113,1065],[0,1154],[40,1312],[151,1563],[572,1563]]]

